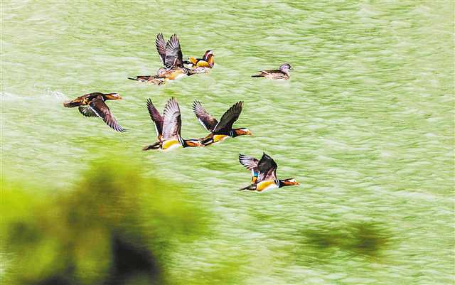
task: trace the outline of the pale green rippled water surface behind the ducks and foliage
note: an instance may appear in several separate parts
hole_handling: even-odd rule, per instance
[[[176,248],[175,284],[451,284],[454,281],[454,4],[451,1],[2,1],[3,176],[65,189],[97,158],[127,157],[141,175],[203,201],[213,235]],[[215,68],[164,86],[127,80],[160,66],[156,33]],[[290,63],[291,80],[251,78]],[[112,131],[63,101],[109,102]],[[205,149],[143,152],[146,113],[175,96],[185,137],[245,101],[254,136]],[[239,152],[266,151],[299,187],[239,193]],[[172,199],[172,197],[169,197]],[[129,209],[124,209],[128,211]],[[225,268],[235,271],[223,271]],[[212,274],[212,275],[210,275]]]

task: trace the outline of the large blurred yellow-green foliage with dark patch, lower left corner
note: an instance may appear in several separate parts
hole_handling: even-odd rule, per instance
[[[55,195],[1,181],[4,281],[168,284],[167,254],[203,235],[208,215],[183,189],[138,170],[94,163],[73,189]]]

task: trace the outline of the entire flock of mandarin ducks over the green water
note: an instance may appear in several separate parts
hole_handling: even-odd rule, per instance
[[[190,57],[183,60],[183,54],[178,41],[178,36],[173,34],[166,42],[163,34],[159,33],[155,40],[156,50],[158,50],[161,63],[164,65],[159,68],[156,75],[138,75],[129,77],[130,80],[146,82],[154,85],[163,85],[169,80],[177,80],[181,77],[191,76],[198,73],[209,72],[215,65],[215,53],[207,50],[202,58]],[[187,65],[187,66],[185,66]],[[291,65],[285,63],[277,70],[261,70],[252,77],[265,77],[271,80],[288,80]],[[115,131],[126,131],[112,115],[106,104],[107,100],[120,100],[122,97],[117,93],[93,92],[77,97],[63,103],[64,107],[78,107],[80,114],[85,117],[100,117],[109,127]],[[200,139],[183,139],[181,137],[181,112],[175,98],[169,99],[164,105],[162,114],[156,109],[150,99],[146,100],[146,107],[149,111],[151,121],[156,129],[157,140],[149,146],[144,146],[142,150],[159,149],[168,151],[178,147],[205,147],[218,144],[230,137],[251,135],[250,129],[233,128],[233,124],[242,112],[243,102],[232,105],[218,121],[210,115],[203,105],[198,101],[193,102],[193,112],[200,124],[209,134]],[[250,156],[239,154],[239,161],[242,166],[252,173],[252,181],[240,190],[252,190],[263,192],[272,188],[282,188],[289,185],[299,185],[294,178],[278,179],[277,163],[268,156],[262,154],[258,160]]]

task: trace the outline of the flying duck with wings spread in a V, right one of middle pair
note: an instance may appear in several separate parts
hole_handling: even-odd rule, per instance
[[[228,109],[228,111],[223,114],[220,119],[220,122],[217,121],[212,115],[208,114],[207,111],[202,107],[202,104],[198,100],[193,102],[193,112],[196,114],[200,124],[203,125],[205,129],[210,131],[208,136],[201,139],[201,143],[204,146],[210,144],[216,144],[219,141],[224,141],[228,137],[242,136],[242,135],[251,135],[250,129],[247,128],[238,128],[232,129],[232,124],[240,116],[242,112],[243,102],[237,102]]]

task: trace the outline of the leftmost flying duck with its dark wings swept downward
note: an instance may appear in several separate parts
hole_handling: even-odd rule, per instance
[[[105,103],[106,100],[120,100],[122,97],[117,93],[100,93],[94,92],[77,97],[75,100],[63,103],[67,108],[79,107],[80,114],[85,117],[100,117],[105,123],[115,131],[124,132],[125,129],[117,123],[117,120],[112,116],[109,107]]]

